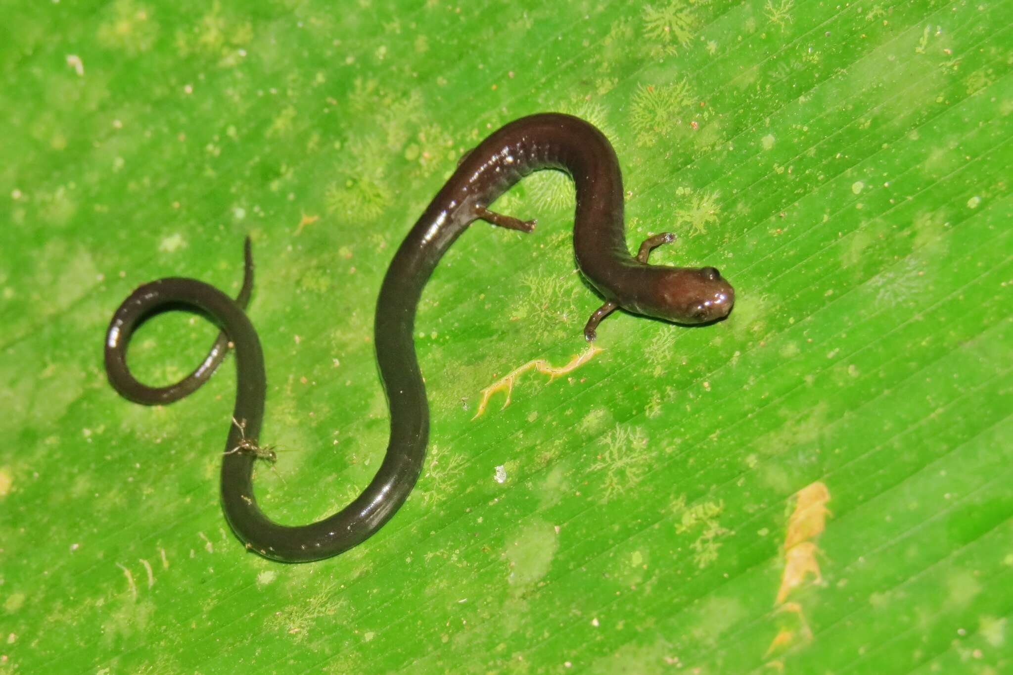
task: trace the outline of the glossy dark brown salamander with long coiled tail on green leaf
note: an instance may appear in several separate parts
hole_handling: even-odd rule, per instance
[[[629,253],[622,175],[612,146],[582,120],[543,114],[505,125],[471,150],[395,252],[377,300],[374,339],[390,406],[390,439],[373,480],[337,513],[309,525],[280,525],[260,511],[253,494],[254,464],[269,461],[274,453],[257,441],[266,382],[259,340],[243,311],[253,273],[248,240],[243,291],[237,300],[192,279],[169,278],[141,286],[124,301],[106,331],[109,381],[136,402],[178,400],[207,381],[231,343],[236,352],[237,388],[221,478],[222,507],[229,525],[247,548],[276,560],[315,560],[347,550],[374,534],[400,508],[425,458],[428,405],[413,341],[415,310],[425,283],[450,245],[477,219],[532,231],[534,221],[496,214],[487,207],[522,177],[543,168],[561,169],[573,178],[574,255],[581,273],[606,301],[585,326],[589,341],[595,339],[599,322],[616,308],[678,323],[703,323],[728,313],[734,292],[713,268],[647,262],[650,250],[671,242],[674,235],[648,237],[636,255]],[[502,275],[509,279],[510,272],[503,270]],[[168,387],[147,387],[127,367],[131,334],[151,314],[179,305],[210,316],[222,328],[222,335],[189,376]],[[339,299],[335,299],[338,307]]]

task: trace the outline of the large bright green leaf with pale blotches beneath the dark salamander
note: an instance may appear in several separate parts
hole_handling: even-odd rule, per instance
[[[1013,5],[151,0],[0,25],[0,673],[1000,673],[1013,668]],[[235,367],[165,407],[105,381],[137,285],[234,293],[266,358],[258,499],[307,523],[384,452],[396,246],[491,130],[612,139],[630,246],[718,267],[730,317],[608,318],[561,174],[426,287],[432,436],[328,560],[218,502]],[[186,374],[215,328],[145,324]],[[571,364],[573,365],[573,364]]]

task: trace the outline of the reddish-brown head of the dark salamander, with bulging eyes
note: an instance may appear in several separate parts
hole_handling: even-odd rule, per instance
[[[714,268],[671,268],[655,286],[654,316],[676,323],[708,323],[724,318],[735,291]]]

